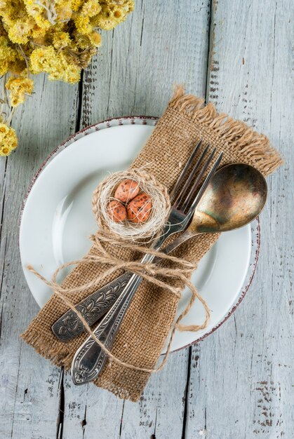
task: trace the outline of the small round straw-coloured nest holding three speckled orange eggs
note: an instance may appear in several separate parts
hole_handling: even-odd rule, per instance
[[[145,192],[151,198],[152,210],[146,222],[138,224],[128,221],[114,222],[108,215],[109,202],[116,200],[114,198],[116,187],[126,179],[135,180],[140,191]],[[100,229],[107,230],[123,240],[133,242],[146,242],[147,239],[154,238],[166,223],[168,213],[171,210],[166,187],[156,182],[152,175],[141,168],[108,175],[93,192],[92,204]]]

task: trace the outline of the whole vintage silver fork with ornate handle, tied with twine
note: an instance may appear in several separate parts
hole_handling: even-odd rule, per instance
[[[188,169],[192,164],[194,156],[199,150],[200,144],[201,142],[196,145],[192,155],[189,157],[189,160],[185,165],[185,168],[182,170],[182,173],[178,178],[178,182],[175,184],[175,187],[171,192],[171,199],[173,200],[171,212],[168,217],[168,222],[163,228],[161,236],[153,245],[154,250],[159,250],[168,236],[180,231],[184,231],[187,228],[189,221],[194,214],[196,205],[199,203],[201,196],[208,186],[208,183],[220,165],[222,154],[218,156],[217,160],[213,164],[213,167],[211,168],[210,173],[208,173],[199,191],[197,191],[199,182],[201,181],[206,169],[211,164],[215,154],[215,149],[213,149],[208,159],[204,163],[201,171],[199,172],[199,175],[197,175],[196,180],[193,182],[196,172],[199,170],[199,166],[201,165],[203,158],[208,151],[207,146],[201,154],[201,157],[197,161],[196,165],[192,168],[191,173],[188,173]],[[178,194],[179,191],[180,193]],[[147,254],[145,257],[143,257],[141,262],[142,264],[152,262],[154,257],[154,255]],[[94,333],[96,337],[99,337],[100,341],[105,344],[107,349],[112,348],[112,344],[119,330],[119,326],[121,325],[121,321],[123,320],[128,306],[131,304],[131,300],[133,299],[133,296],[135,295],[135,292],[141,282],[142,277],[133,274],[130,281],[128,281],[128,284],[121,293],[119,299],[116,300],[112,308],[108,311],[100,324],[95,328]],[[98,374],[100,374],[106,360],[107,354],[100,348],[100,346],[91,336],[88,337],[86,342],[84,342],[78,351],[76,351],[72,361],[72,379],[74,384],[80,385],[86,384],[88,381],[93,381],[93,379],[98,377]]]

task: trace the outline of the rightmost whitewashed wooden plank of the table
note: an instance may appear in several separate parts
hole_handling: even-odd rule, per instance
[[[290,0],[214,3],[209,100],[269,135],[285,165],[269,179],[246,298],[193,348],[186,439],[293,437],[293,12]]]

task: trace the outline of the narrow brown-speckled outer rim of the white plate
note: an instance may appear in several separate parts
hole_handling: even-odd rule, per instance
[[[140,123],[138,123],[140,121]],[[156,123],[159,121],[159,117],[156,116],[122,116],[122,117],[112,117],[109,119],[104,119],[103,121],[93,123],[90,126],[86,126],[85,128],[82,128],[81,130],[77,131],[76,133],[70,135],[67,137],[67,140],[60,143],[53,151],[48,154],[48,156],[45,158],[44,162],[41,163],[41,166],[36,170],[36,173],[32,177],[32,181],[29,183],[29,187],[27,188],[27,191],[25,193],[25,196],[22,201],[22,206],[20,209],[20,215],[19,215],[19,221],[18,221],[18,248],[20,252],[20,226],[22,222],[22,214],[25,210],[25,204],[27,202],[27,198],[32,191],[32,187],[34,186],[36,180],[38,179],[41,172],[46,168],[48,163],[50,163],[55,156],[57,156],[63,149],[69,147],[72,143],[76,142],[76,140],[79,140],[81,137],[84,137],[86,135],[89,135],[91,133],[95,133],[98,130],[102,130],[105,128],[112,128],[113,126],[123,126],[126,124],[129,125],[151,125],[156,126]],[[246,273],[245,281],[238,293],[238,297],[236,298],[236,302],[232,304],[231,308],[227,312],[227,314],[215,325],[211,328],[209,332],[206,332],[206,334],[203,334],[201,337],[196,337],[196,339],[188,344],[185,344],[184,346],[181,346],[180,348],[173,349],[172,352],[177,352],[182,349],[186,349],[189,346],[194,346],[194,344],[197,344],[199,342],[202,342],[203,339],[208,337],[209,335],[213,334],[218,328],[225,323],[230,316],[236,311],[237,307],[241,302],[243,301],[243,298],[246,296],[246,293],[248,289],[250,288],[250,285],[253,281],[256,267],[258,264],[258,257],[260,255],[260,219],[259,217],[256,217],[252,224],[255,224],[255,241],[253,240],[253,235],[251,235],[251,255],[250,255],[250,262],[248,266],[248,271]],[[255,247],[255,248],[254,248]],[[20,255],[21,259],[21,255]],[[29,289],[29,291],[32,294],[32,291]],[[32,294],[34,297],[34,295]],[[36,301],[36,299],[34,299]],[[36,302],[37,303],[37,302]],[[37,304],[39,306],[39,304]],[[41,308],[40,308],[41,309]],[[196,332],[195,332],[196,334]],[[163,355],[161,353],[161,355]]]

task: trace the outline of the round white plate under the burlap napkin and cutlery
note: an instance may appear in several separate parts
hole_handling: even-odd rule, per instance
[[[79,259],[88,251],[88,236],[96,229],[91,210],[93,189],[108,171],[127,168],[155,125],[156,118],[143,117],[98,123],[70,137],[41,166],[27,192],[20,222],[22,268],[39,306],[44,306],[52,292],[27,265],[51,278],[60,264]],[[211,321],[196,333],[177,332],[173,350],[206,337],[234,311],[250,285],[258,249],[258,220],[220,236],[193,276],[211,309]],[[185,290],[179,313],[188,299]],[[203,316],[196,301],[183,323],[199,323]]]

